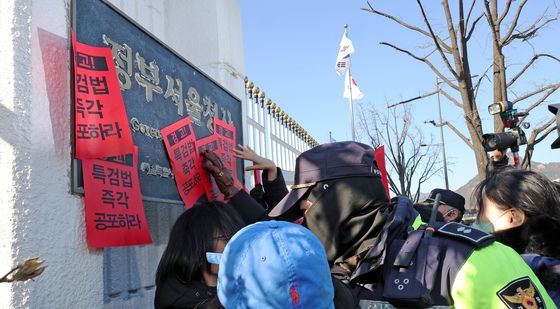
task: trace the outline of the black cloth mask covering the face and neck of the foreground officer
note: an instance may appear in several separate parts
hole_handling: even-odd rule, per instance
[[[387,216],[384,211],[388,200],[378,177],[320,182],[311,189],[307,200],[313,205],[305,213],[303,225],[321,240],[330,264],[372,245]]]

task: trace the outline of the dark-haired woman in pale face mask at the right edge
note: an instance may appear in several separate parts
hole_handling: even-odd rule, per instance
[[[560,195],[543,175],[505,169],[482,181],[474,191],[479,214],[474,226],[525,260],[560,306]]]

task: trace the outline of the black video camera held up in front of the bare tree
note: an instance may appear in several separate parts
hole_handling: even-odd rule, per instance
[[[519,127],[519,117],[525,117],[529,113],[513,109],[513,104],[509,101],[491,104],[488,106],[488,113],[491,115],[500,114],[507,131],[483,134],[482,146],[485,151],[511,148],[512,152],[517,152],[520,145],[527,144],[525,132]],[[529,123],[523,123],[523,128],[528,129],[529,126]]]

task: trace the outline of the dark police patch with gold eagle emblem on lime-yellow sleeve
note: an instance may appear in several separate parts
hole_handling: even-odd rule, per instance
[[[513,280],[496,295],[510,309],[546,308],[541,293],[529,277]]]

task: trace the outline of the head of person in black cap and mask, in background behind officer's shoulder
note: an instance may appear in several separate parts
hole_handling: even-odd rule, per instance
[[[436,194],[438,193],[440,194],[441,199],[437,210],[441,214],[442,221],[461,222],[463,214],[465,213],[465,198],[451,190],[433,189],[428,198],[420,202],[418,205],[415,205],[418,212],[422,215],[422,211],[426,209],[426,206],[428,209],[431,209],[431,206],[436,198]],[[422,221],[428,222],[425,215],[422,216]]]

